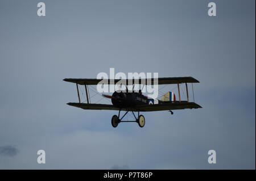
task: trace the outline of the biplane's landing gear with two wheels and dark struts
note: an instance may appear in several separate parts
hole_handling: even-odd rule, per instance
[[[119,123],[121,122],[136,122],[139,124],[139,127],[143,128],[144,125],[145,125],[145,117],[143,115],[139,115],[139,111],[138,111],[138,118],[135,116],[134,112],[133,112],[133,115],[135,117],[135,121],[122,121],[123,117],[125,117],[125,115],[129,112],[129,111],[126,111],[126,113],[121,117],[121,119],[119,119],[120,117],[120,111],[118,112],[118,116],[117,115],[114,115],[112,117],[112,120],[111,120],[111,124],[112,124],[112,127],[116,128],[118,126]]]

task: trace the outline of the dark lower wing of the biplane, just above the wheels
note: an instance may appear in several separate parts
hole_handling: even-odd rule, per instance
[[[110,104],[86,104],[86,103],[67,103],[69,106],[75,106],[84,110],[117,110],[120,108]],[[183,109],[201,108],[193,102],[174,102],[174,103],[162,103],[162,104],[143,104],[135,107],[121,108],[121,111],[164,111],[164,110],[183,110]]]

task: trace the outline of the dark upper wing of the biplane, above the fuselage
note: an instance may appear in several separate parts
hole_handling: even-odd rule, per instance
[[[116,84],[118,81],[126,81],[126,85],[143,84],[154,85],[154,78],[139,79],[96,79],[96,78],[65,78],[63,81],[78,83],[79,85],[97,85],[100,81],[105,81],[108,85]],[[193,77],[164,77],[158,78],[158,85],[176,84],[176,83],[199,83]]]

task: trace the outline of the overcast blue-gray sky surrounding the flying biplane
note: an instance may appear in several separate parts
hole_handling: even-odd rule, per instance
[[[255,169],[255,1],[38,2],[0,1],[0,169]],[[203,108],[112,128],[66,104],[109,68],[195,77]]]

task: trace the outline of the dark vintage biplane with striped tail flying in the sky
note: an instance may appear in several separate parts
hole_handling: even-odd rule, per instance
[[[94,104],[90,103],[88,99],[88,85],[97,85],[100,81],[103,79],[80,79],[80,78],[65,78],[63,81],[76,83],[77,88],[77,95],[79,98],[79,103],[67,103],[69,106],[75,106],[82,108],[84,110],[116,110],[119,111],[118,115],[114,115],[112,117],[111,123],[112,126],[115,128],[118,126],[121,122],[136,122],[138,123],[139,127],[144,127],[145,124],[145,118],[143,115],[140,115],[140,112],[147,112],[147,111],[164,111],[168,110],[173,114],[172,110],[183,110],[183,109],[192,109],[192,108],[201,108],[198,104],[195,102],[189,102],[189,96],[188,96],[188,86],[187,83],[199,83],[197,79],[193,77],[168,77],[168,78],[158,78],[158,85],[171,85],[176,84],[177,90],[179,94],[179,100],[176,100],[176,96],[174,92],[167,92],[162,96],[161,100],[158,99],[151,99],[145,95],[142,94],[142,91],[134,91],[134,90],[128,90],[126,91],[115,91],[112,95],[105,95],[102,94],[102,96],[105,96],[106,98],[111,99],[112,104]],[[115,85],[121,79],[104,79],[106,82],[108,82],[109,85]],[[122,79],[123,81],[123,79]],[[142,85],[142,83],[146,82],[148,85],[153,85],[154,78],[151,79],[125,79],[126,85],[135,85],[139,84]],[[181,100],[180,98],[180,84],[185,83],[186,86],[186,92],[187,92],[187,100]],[[87,103],[81,103],[80,101],[80,94],[79,94],[79,87],[78,85],[84,85],[85,86],[85,92],[86,92],[86,99]],[[121,117],[120,112],[126,111],[125,114]],[[134,121],[122,121],[123,117],[128,112],[132,112],[135,120]],[[138,112],[138,117],[135,116],[134,112]]]

